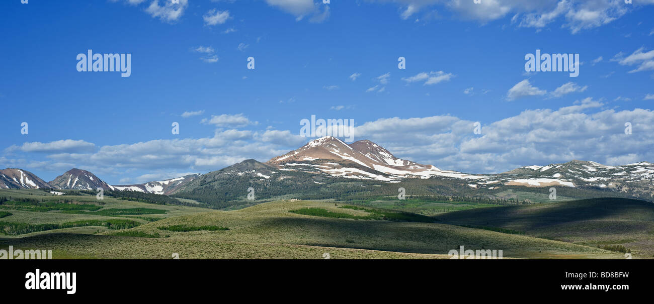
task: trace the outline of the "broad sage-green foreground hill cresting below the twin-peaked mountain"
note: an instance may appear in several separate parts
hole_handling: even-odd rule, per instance
[[[594,246],[425,222],[422,218],[402,222],[394,219],[405,217],[342,207],[321,201],[275,201],[237,211],[173,216],[121,230],[122,235],[158,237],[116,236],[116,231],[110,230],[95,235],[41,233],[0,241],[0,248],[52,248],[55,258],[169,259],[177,253],[179,258],[321,259],[329,254],[337,259],[449,258],[449,250],[464,246],[503,250],[505,258],[624,258]],[[315,214],[330,215],[291,212],[301,209],[323,209],[325,212]],[[165,229],[179,226],[228,229]]]

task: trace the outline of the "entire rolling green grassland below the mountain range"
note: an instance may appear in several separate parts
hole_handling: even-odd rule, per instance
[[[54,258],[447,259],[449,250],[464,246],[503,250],[504,258],[620,259],[622,252],[597,245],[614,245],[617,237],[646,243],[648,231],[654,231],[654,218],[647,213],[651,206],[630,200],[613,202],[608,211],[600,209],[601,202],[500,206],[410,199],[364,205],[282,200],[215,211],[41,190],[0,190],[0,197],[18,200],[0,205],[0,212],[11,214],[0,218],[0,248],[51,248]],[[547,212],[551,206],[557,212]],[[588,209],[598,209],[593,211],[597,216],[587,215]],[[515,212],[524,216],[511,220]],[[597,219],[605,222],[584,223]],[[606,223],[613,226],[593,228]],[[640,232],[626,230],[636,224]],[[571,230],[579,225],[585,225],[587,236]],[[60,228],[7,233],[44,226]],[[651,257],[638,246],[627,247],[634,248],[633,258]]]

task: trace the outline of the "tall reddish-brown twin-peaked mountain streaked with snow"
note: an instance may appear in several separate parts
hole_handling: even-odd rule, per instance
[[[445,171],[433,165],[401,160],[371,141],[343,143],[336,137],[321,137],[267,161],[281,171],[324,173],[334,177],[397,181],[402,178],[433,176],[475,180],[485,178],[456,171]]]

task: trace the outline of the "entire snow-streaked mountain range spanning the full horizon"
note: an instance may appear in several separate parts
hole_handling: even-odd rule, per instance
[[[556,186],[600,190],[602,193],[617,192],[649,201],[654,197],[654,164],[645,161],[608,166],[593,161],[573,160],[568,163],[521,167],[495,175],[474,175],[402,160],[368,140],[346,144],[335,137],[309,141],[297,150],[272,158],[266,163],[245,160],[205,175],[187,175],[145,184],[112,186],[93,173],[80,169],[71,169],[51,182],[44,182],[22,169],[0,171],[0,188],[103,188],[175,195],[199,201],[243,199],[244,187],[247,189],[248,186],[262,189],[263,192],[259,193],[268,197],[295,191],[324,194],[327,184],[356,180],[368,184],[432,180],[440,181],[441,186],[444,182],[450,190],[465,188],[460,192],[485,190],[484,195],[488,195],[489,190],[495,192],[494,190],[508,186]]]

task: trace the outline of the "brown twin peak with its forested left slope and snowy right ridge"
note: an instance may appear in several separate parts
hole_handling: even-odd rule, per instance
[[[543,201],[544,197],[547,201],[548,190],[554,186],[559,187],[560,197],[567,199],[634,197],[651,200],[654,167],[650,165],[610,167],[590,161],[571,161],[522,167],[496,175],[470,175],[402,160],[371,141],[346,144],[334,137],[322,137],[266,163],[246,160],[207,173],[172,194],[218,208],[254,204],[246,198],[250,187],[259,203],[288,198],[394,197],[400,187],[411,195],[513,201]]]

